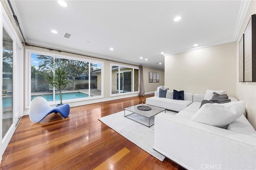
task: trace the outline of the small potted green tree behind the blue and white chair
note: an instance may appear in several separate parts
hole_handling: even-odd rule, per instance
[[[62,67],[58,67],[54,70],[50,70],[50,75],[48,77],[49,84],[58,88],[60,91],[60,105],[62,105],[62,97],[61,97],[61,89],[64,89],[69,81],[68,81],[68,73]]]

